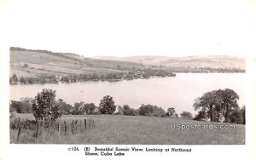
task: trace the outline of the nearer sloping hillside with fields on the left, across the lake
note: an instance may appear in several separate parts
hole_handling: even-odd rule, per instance
[[[143,68],[145,66],[134,62],[96,60],[78,54],[52,53],[44,50],[10,49],[10,75],[16,74],[17,77],[105,74]]]

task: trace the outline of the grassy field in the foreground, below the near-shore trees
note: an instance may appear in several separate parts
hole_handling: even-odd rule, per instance
[[[20,118],[33,118],[29,114],[18,114]],[[89,118],[89,117],[87,117]],[[243,145],[245,144],[245,125],[236,124],[236,129],[171,129],[171,123],[212,124],[180,118],[137,117],[100,115],[90,117],[96,127],[81,129],[76,134],[67,135],[48,132],[44,138],[32,141],[35,131],[23,129],[19,143],[40,144],[104,144],[104,145]],[[83,120],[81,116],[63,116],[59,121]],[[222,123],[215,123],[222,124]],[[10,129],[10,143],[16,143],[18,130]],[[43,140],[44,139],[44,140]]]

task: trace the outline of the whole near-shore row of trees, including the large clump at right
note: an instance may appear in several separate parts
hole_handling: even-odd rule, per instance
[[[231,89],[218,89],[207,92],[195,99],[195,110],[198,114],[193,117],[189,111],[180,113],[180,117],[194,120],[210,120],[211,122],[245,123],[245,106],[237,105],[239,96]],[[140,106],[138,109],[128,105],[116,106],[113,97],[106,95],[100,100],[99,106],[94,103],[76,102],[72,105],[64,100],[55,100],[55,90],[43,89],[34,99],[23,98],[20,101],[10,100],[10,112],[33,113],[36,119],[56,120],[61,115],[110,114],[125,116],[148,117],[179,117],[174,107],[165,111],[162,107],[153,105]]]

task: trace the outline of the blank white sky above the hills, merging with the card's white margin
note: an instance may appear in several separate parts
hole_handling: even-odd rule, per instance
[[[255,53],[247,0],[20,0],[0,2],[7,46],[91,56]]]

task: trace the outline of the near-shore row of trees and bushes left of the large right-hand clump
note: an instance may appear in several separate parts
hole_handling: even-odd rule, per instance
[[[168,109],[152,105],[142,105],[138,109],[133,109],[128,105],[116,106],[113,97],[106,95],[100,100],[99,106],[94,103],[76,102],[72,105],[64,100],[55,100],[55,90],[43,89],[34,99],[22,98],[20,101],[10,100],[9,111],[18,113],[33,113],[38,119],[55,120],[61,115],[84,115],[84,114],[110,114],[110,115],[126,115],[126,116],[154,116],[154,117],[178,117],[175,109]],[[181,117],[188,117],[181,114]]]

